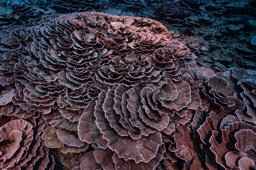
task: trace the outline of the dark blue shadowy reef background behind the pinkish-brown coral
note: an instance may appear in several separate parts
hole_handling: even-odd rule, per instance
[[[256,35],[255,0],[8,0],[0,2],[0,8],[0,29],[37,25],[42,19],[75,11],[152,18],[175,33],[207,41],[209,53],[199,54],[200,66],[207,63],[212,67],[250,69],[256,62],[256,47],[251,41]],[[47,15],[53,13],[54,17]],[[217,53],[219,59],[212,60],[210,52]]]

